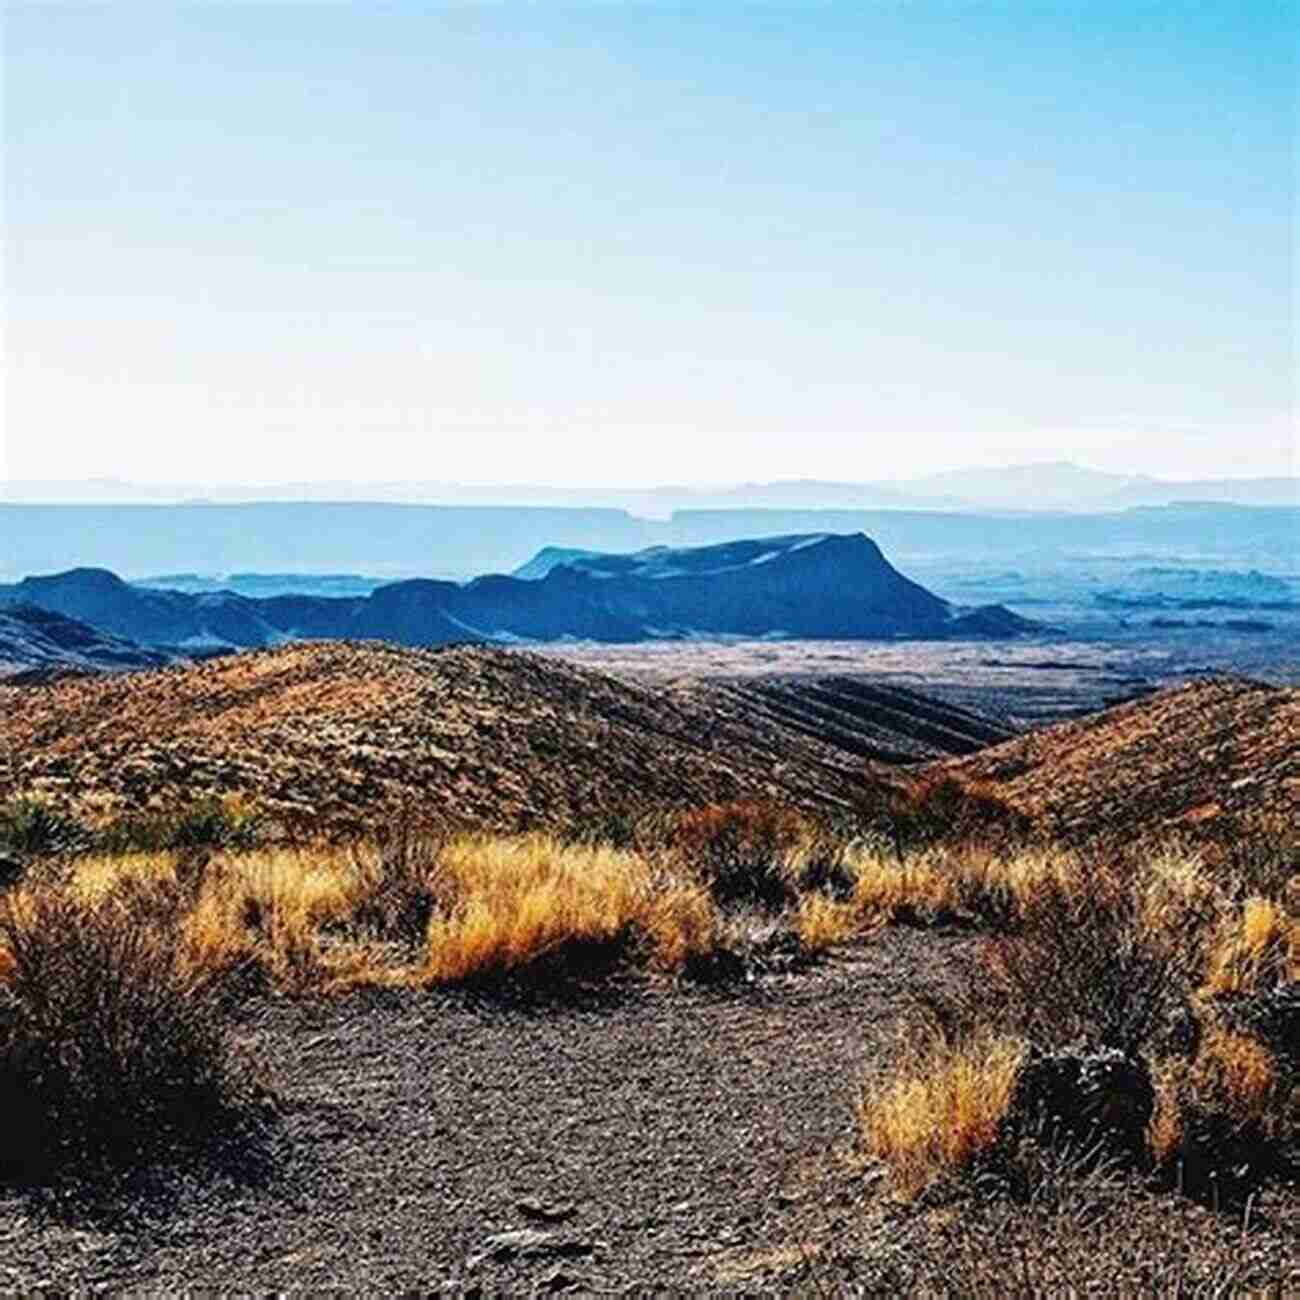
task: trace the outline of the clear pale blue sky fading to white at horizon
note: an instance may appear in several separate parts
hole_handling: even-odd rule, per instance
[[[1296,5],[3,9],[0,474],[1296,465]]]

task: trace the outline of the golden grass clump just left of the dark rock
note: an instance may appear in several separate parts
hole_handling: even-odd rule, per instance
[[[1023,1043],[1010,1036],[936,1037],[864,1093],[863,1147],[889,1166],[902,1199],[959,1174],[996,1144],[1023,1057]]]

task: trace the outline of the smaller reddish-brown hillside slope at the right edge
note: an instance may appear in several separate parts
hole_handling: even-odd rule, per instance
[[[1300,689],[1210,679],[944,760],[1066,836],[1300,812]]]

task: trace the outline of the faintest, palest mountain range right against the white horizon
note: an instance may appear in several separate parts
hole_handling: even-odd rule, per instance
[[[950,469],[909,480],[836,482],[796,478],[722,486],[563,488],[436,481],[135,484],[110,478],[0,482],[0,502],[176,504],[239,502],[394,502],[625,510],[664,517],[682,510],[1013,510],[1105,511],[1219,502],[1300,506],[1300,477],[1178,481],[1117,474],[1070,462]]]

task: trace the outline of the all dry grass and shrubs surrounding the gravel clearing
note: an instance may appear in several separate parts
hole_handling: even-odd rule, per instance
[[[861,1149],[888,1170],[900,1214],[949,1217],[924,1230],[907,1219],[910,1253],[878,1253],[864,1277],[992,1294],[989,1261],[1005,1269],[1019,1231],[1015,1277],[1030,1294],[1071,1270],[1091,1277],[1097,1225],[1121,1231],[1123,1205],[1154,1214],[1161,1197],[1190,1204],[1186,1192],[1240,1214],[1294,1176],[1296,1066],[1260,1019],[1271,1006],[1260,1000],[1300,974],[1284,848],[1249,858],[1245,888],[1213,845],[1062,849],[974,812],[965,840],[748,801],[611,823],[616,845],[412,823],[260,846],[244,810],[199,814],[114,841],[49,838],[52,852],[29,855],[39,870],[5,894],[4,1087],[14,1113],[40,1114],[20,1136],[57,1130],[55,1162],[140,1160],[238,1124],[248,1089],[222,1005],[259,989],[554,994],[632,976],[734,979],[906,926],[966,935],[966,956],[950,958],[945,992],[909,1004],[896,1053],[863,1091]],[[1031,1071],[1072,1078],[1105,1053],[1118,1076],[1149,1080],[1136,1160],[1098,1145],[1101,1128],[1062,1136],[1026,1096]],[[105,1106],[110,1093],[122,1104]],[[34,1150],[10,1138],[4,1158],[42,1176]],[[975,1248],[978,1225],[992,1254]],[[1245,1266],[1216,1243],[1188,1228],[1178,1268],[1190,1292],[1280,1277],[1277,1261]],[[1136,1251],[1119,1262],[1134,1286],[1174,1277]]]

